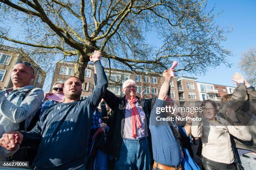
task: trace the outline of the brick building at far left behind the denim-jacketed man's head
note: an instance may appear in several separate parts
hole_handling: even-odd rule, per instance
[[[43,71],[31,58],[18,48],[9,46],[0,46],[0,90],[13,87],[11,81],[11,71],[17,61],[26,61],[31,63],[35,70],[35,78],[31,85],[43,88],[45,80],[45,71]]]

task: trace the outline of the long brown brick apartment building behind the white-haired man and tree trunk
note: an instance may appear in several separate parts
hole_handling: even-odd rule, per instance
[[[54,82],[64,82],[71,75],[74,67],[73,62],[59,62],[56,64],[53,80],[51,83],[51,87]],[[149,99],[155,97],[159,93],[159,89],[164,79],[159,74],[140,74],[132,73],[131,71],[125,71],[120,69],[111,69],[105,68],[105,73],[109,79],[108,90],[112,91],[117,96],[123,96],[122,92],[122,83],[125,80],[133,79],[136,81],[136,93],[140,96],[143,88],[146,88],[144,94],[145,98]],[[84,72],[84,83],[82,84],[82,95],[81,99],[84,99],[92,94],[94,88],[94,66],[92,64],[88,64],[87,68]],[[174,86],[176,84],[176,87]],[[171,96],[174,100],[178,100],[177,93],[177,81],[175,79],[171,82]],[[175,94],[176,91],[176,94]]]

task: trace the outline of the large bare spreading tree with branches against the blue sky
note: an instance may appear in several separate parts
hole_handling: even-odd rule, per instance
[[[229,66],[230,51],[220,46],[226,28],[214,23],[212,10],[198,0],[0,0],[0,38],[18,43],[33,55],[77,56],[73,75],[84,80],[94,50],[109,67],[161,72],[205,73]],[[6,25],[20,25],[12,36]],[[1,26],[2,25],[2,26]],[[5,26],[3,26],[5,25]],[[149,43],[158,38],[156,43]],[[27,47],[27,48],[26,48]],[[28,48],[29,47],[29,48]],[[41,58],[42,61],[49,61]]]

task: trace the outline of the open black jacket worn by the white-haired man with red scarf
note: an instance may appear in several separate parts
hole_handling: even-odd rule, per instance
[[[94,75],[94,81],[97,81],[96,75]],[[108,126],[110,130],[107,135],[105,152],[112,156],[115,160],[118,160],[120,154],[120,148],[122,144],[123,138],[123,127],[124,127],[124,119],[125,119],[125,96],[118,97],[115,96],[111,91],[106,91],[103,99],[106,101],[108,106],[113,110],[113,114],[108,121]],[[143,108],[144,113],[146,114],[146,124],[148,135],[150,139],[150,131],[149,131],[149,116],[151,112],[151,100],[140,99],[137,97],[138,101]],[[150,142],[151,144],[151,142]]]

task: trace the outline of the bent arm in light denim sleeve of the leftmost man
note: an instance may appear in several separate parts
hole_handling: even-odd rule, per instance
[[[43,99],[44,91],[35,89],[26,96],[20,106],[16,106],[0,92],[0,114],[10,119],[13,123],[20,123],[40,109]]]

